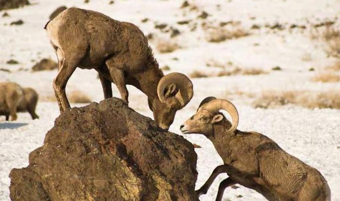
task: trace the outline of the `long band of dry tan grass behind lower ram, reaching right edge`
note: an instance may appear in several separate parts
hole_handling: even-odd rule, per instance
[[[253,103],[253,107],[273,108],[294,104],[307,108],[340,109],[340,93],[337,91],[264,91]]]

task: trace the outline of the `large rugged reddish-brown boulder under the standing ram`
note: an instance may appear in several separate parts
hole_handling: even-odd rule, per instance
[[[10,173],[12,200],[198,200],[193,145],[111,98],[61,114],[29,166]]]

